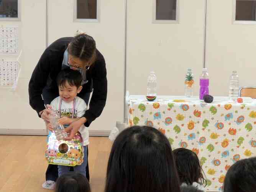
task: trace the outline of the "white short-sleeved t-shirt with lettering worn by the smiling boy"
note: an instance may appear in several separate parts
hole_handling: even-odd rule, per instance
[[[73,118],[79,118],[83,117],[85,111],[87,110],[87,105],[85,101],[80,97],[75,97],[75,102],[69,102],[66,103],[64,100],[61,102],[61,117],[71,117],[73,113],[73,103],[75,103],[75,110],[74,110],[74,116]],[[59,105],[60,105],[61,97],[56,97],[52,102],[51,106],[53,107],[53,110],[57,110],[59,112]],[[89,131],[88,128],[82,125],[79,129],[79,132],[81,133],[81,136],[84,141],[84,146],[89,144]]]

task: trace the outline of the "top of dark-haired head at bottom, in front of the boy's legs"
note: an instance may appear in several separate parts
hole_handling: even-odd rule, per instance
[[[90,192],[90,184],[83,174],[69,172],[57,179],[55,192]]]

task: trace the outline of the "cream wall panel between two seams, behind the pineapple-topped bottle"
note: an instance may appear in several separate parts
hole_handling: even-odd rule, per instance
[[[199,95],[203,67],[204,0],[179,0],[179,23],[153,23],[153,3],[129,0],[127,19],[127,89],[146,95],[151,70],[157,76],[158,95],[184,95],[187,68],[195,75]]]

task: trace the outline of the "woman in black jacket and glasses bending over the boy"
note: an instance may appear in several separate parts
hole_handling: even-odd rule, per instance
[[[82,33],[74,38],[60,38],[53,42],[39,59],[31,76],[28,91],[31,107],[36,110],[39,117],[49,121],[48,115],[50,110],[45,108],[45,105],[48,105],[58,96],[56,77],[62,69],[67,67],[79,70],[82,74],[83,89],[77,96],[83,98],[87,105],[90,92],[93,89],[89,110],[85,112],[84,117],[71,123],[65,129],[67,132],[71,131],[67,138],[67,140],[71,140],[82,124],[88,127],[95,118],[100,116],[107,99],[105,59],[96,49],[94,39]],[[89,169],[86,172],[89,180]],[[43,187],[54,189],[57,177],[57,166],[49,164],[46,171],[46,182],[43,184]]]

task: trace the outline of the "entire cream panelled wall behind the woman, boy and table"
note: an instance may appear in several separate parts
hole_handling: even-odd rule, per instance
[[[100,23],[74,23],[73,2],[48,1],[48,41],[73,36],[77,29],[95,38],[107,63],[108,98],[102,115],[90,130],[109,131],[115,121],[123,119],[125,0],[101,0]],[[127,90],[130,94],[146,94],[147,76],[153,69],[158,78],[159,95],[183,95],[184,75],[190,67],[195,75],[194,95],[198,95],[203,67],[205,0],[179,0],[177,24],[153,24],[152,1],[127,2]],[[234,0],[207,2],[205,63],[210,75],[210,94],[227,95],[228,77],[234,69],[240,75],[240,85],[255,85],[256,25],[232,24]],[[16,91],[0,88],[0,133],[14,133],[16,129],[28,134],[46,133],[44,123],[28,101],[28,81],[46,48],[46,0],[23,0],[21,21],[0,22],[0,25],[20,27],[22,49]]]

